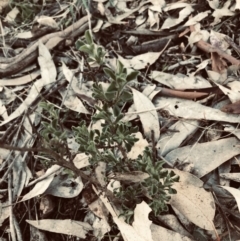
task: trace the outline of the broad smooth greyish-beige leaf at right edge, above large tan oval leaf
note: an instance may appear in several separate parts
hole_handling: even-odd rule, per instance
[[[235,137],[197,143],[175,149],[169,152],[165,159],[173,166],[176,163],[193,164],[193,174],[201,178],[233,156],[240,154],[239,144],[240,141]]]

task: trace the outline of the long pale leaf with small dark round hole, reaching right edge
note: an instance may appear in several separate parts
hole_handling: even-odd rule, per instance
[[[239,116],[224,113],[220,110],[201,105],[191,100],[170,97],[157,97],[154,100],[155,107],[162,108],[170,115],[190,118],[195,120],[215,120],[230,123],[238,123]]]

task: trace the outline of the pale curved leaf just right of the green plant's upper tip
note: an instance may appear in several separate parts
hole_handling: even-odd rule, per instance
[[[162,52],[148,52],[134,56],[132,59],[124,59],[122,56],[118,55],[118,59],[124,67],[139,70],[154,64],[161,54]]]

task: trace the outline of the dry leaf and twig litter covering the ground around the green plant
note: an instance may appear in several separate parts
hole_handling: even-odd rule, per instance
[[[96,0],[89,5],[72,1],[78,14],[64,0],[58,6],[48,3],[52,12],[43,5],[42,13],[37,7],[40,1],[34,1],[36,8],[31,11],[30,1],[25,9],[16,2],[0,3],[5,19],[0,23],[3,240],[30,240],[34,235],[47,240],[45,231],[64,234],[57,236],[58,240],[90,240],[89,235],[95,238],[91,240],[109,240],[112,234],[114,240],[121,236],[120,240],[129,241],[239,240],[240,1]],[[30,18],[26,9],[32,13]],[[71,24],[87,18],[79,33],[73,24],[76,35],[64,39],[54,34],[69,26],[64,25],[62,16]],[[115,68],[118,59],[131,71],[140,71],[128,86],[133,101],[121,110],[123,120],[141,130],[127,157],[134,161],[151,147],[164,166],[180,177],[174,184],[177,194],[172,194],[168,203],[171,210],[159,217],[152,217],[152,209],[142,201],[133,212],[134,222],[128,224],[104,192],[89,188],[67,169],[50,165],[37,148],[41,145],[39,122],[49,118],[43,115],[40,101],[58,103],[56,107],[75,123],[79,116],[80,120],[89,119],[95,105],[101,104],[92,96],[94,81],[104,89],[109,87],[101,69],[90,66],[86,55],[74,47],[76,37],[81,38],[83,29],[88,28],[94,41],[107,51],[107,65]],[[37,58],[33,54],[19,58],[21,51],[22,56],[31,51],[32,41],[38,43]],[[137,51],[139,46],[142,48]],[[21,61],[29,68],[21,68]],[[12,71],[6,71],[9,63]],[[101,131],[101,121],[89,128]],[[71,128],[65,131],[69,156],[62,158],[87,173],[89,156],[74,146]],[[96,178],[111,188],[123,180],[135,183],[148,178],[144,172],[110,173],[111,182],[106,183],[106,168],[96,168]],[[39,171],[44,174],[37,177]],[[220,192],[228,198],[224,200]],[[46,206],[35,207],[35,203],[43,205],[43,200]],[[52,200],[55,205],[51,207]],[[23,233],[26,229],[28,234]],[[10,230],[9,236],[6,230]]]

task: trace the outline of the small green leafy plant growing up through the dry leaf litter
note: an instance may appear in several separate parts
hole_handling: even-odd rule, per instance
[[[88,31],[85,37],[86,43],[81,42],[79,49],[103,65],[104,51],[98,51],[102,47],[93,43]],[[134,135],[138,132],[138,127],[123,121],[124,114],[121,109],[125,103],[132,101],[132,94],[127,86],[136,80],[138,72],[127,70],[121,62],[117,63],[116,70],[103,67],[103,71],[110,82],[108,88],[103,88],[100,83],[93,85],[93,97],[101,105],[95,106],[96,112],[92,116],[92,122],[100,121],[101,130],[89,128],[85,121],[72,127],[75,140],[80,144],[79,151],[89,156],[92,171],[100,162],[106,163],[106,180],[110,173],[147,173],[148,177],[141,181],[122,181],[121,187],[114,190],[114,195],[119,199],[123,215],[128,221],[131,221],[136,204],[143,200],[150,205],[154,214],[158,215],[168,209],[169,194],[176,193],[172,185],[178,181],[178,177],[173,171],[169,172],[163,168],[164,162],[158,160],[150,148],[146,148],[143,155],[139,155],[135,160],[128,158],[127,153],[138,141]],[[52,148],[56,148],[56,143],[58,147],[64,148],[62,143],[65,141],[65,135],[64,131],[59,129],[58,113],[54,108],[49,106],[51,123],[43,122],[42,136]]]

